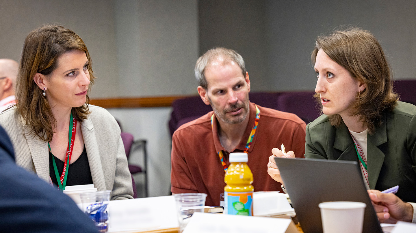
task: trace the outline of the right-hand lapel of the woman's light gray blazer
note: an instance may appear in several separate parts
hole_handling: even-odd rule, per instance
[[[98,150],[97,137],[95,136],[94,125],[88,118],[81,123],[81,127],[85,149],[87,150],[92,181],[94,182],[94,186],[99,191],[106,190],[107,188],[104,180],[104,173],[101,165],[101,158]]]

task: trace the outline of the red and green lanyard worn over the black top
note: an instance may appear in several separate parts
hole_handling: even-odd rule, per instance
[[[67,156],[65,157],[65,163],[64,163],[64,169],[62,170],[61,177],[59,179],[59,172],[58,168],[56,166],[55,158],[53,157],[51,146],[48,142],[49,150],[52,154],[52,162],[53,162],[53,168],[56,175],[56,180],[59,186],[59,190],[63,191],[65,190],[65,186],[67,185],[67,177],[69,172],[69,162],[71,161],[71,155],[72,150],[74,148],[74,142],[75,142],[75,132],[77,131],[77,119],[72,117],[71,113],[71,119],[69,120],[69,130],[68,130],[68,149],[67,149]]]

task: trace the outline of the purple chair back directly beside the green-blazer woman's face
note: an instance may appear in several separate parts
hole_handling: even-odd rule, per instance
[[[321,113],[313,95],[313,91],[281,93],[277,98],[277,106],[279,110],[294,113],[305,123],[310,123]]]

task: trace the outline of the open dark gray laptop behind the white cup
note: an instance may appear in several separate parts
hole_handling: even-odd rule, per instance
[[[363,232],[383,233],[357,162],[278,157],[275,161],[303,232],[323,232],[319,203],[358,201],[367,205]]]

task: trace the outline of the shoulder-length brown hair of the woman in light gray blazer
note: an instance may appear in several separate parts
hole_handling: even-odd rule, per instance
[[[47,99],[42,96],[43,91],[36,85],[33,77],[36,73],[50,77],[57,69],[59,56],[74,49],[84,51],[87,55],[89,92],[95,79],[91,68],[91,57],[81,37],[75,32],[59,25],[45,25],[30,32],[23,44],[16,82],[16,106],[25,124],[30,125],[30,133],[33,132],[46,142],[52,140],[56,119]],[[86,103],[81,107],[72,108],[75,119],[80,122],[87,119],[88,104],[87,93]]]

